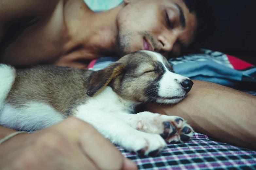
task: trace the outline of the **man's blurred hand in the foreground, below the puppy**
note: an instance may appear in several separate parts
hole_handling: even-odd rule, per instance
[[[0,150],[0,169],[137,169],[93,126],[76,118],[16,135],[0,145]]]

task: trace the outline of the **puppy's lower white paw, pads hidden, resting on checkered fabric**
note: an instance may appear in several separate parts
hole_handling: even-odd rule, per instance
[[[124,147],[138,154],[154,156],[166,148],[166,142],[160,135],[138,131],[138,133],[129,136]]]

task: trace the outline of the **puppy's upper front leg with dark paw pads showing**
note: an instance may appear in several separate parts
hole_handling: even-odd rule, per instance
[[[193,136],[193,128],[178,116],[167,116],[151,112],[115,115],[134,129],[142,132],[159,134],[170,142],[186,142]]]

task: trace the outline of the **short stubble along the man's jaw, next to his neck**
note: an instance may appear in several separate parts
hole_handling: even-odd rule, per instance
[[[131,52],[130,42],[132,35],[133,32],[128,29],[120,27],[117,29],[116,44],[118,48],[118,55],[120,57]]]

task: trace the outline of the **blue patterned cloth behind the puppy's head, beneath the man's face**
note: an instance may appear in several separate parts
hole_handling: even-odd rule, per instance
[[[89,69],[100,70],[117,60],[117,57],[102,57]],[[169,63],[173,65],[177,74],[194,80],[209,81],[234,89],[238,89],[241,84],[251,86],[254,83],[256,87],[256,67],[249,66],[241,70],[234,69],[228,56],[221,52],[202,49],[197,54],[171,58]]]

